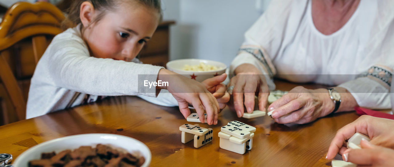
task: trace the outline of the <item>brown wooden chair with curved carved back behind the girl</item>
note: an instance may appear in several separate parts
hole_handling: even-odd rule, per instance
[[[0,111],[3,110],[0,118],[4,118],[3,124],[25,119],[28,88],[35,66],[52,38],[62,32],[64,19],[56,6],[46,2],[18,2],[4,15],[0,24]]]

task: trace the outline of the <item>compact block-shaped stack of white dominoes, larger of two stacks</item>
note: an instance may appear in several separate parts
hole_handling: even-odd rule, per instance
[[[253,137],[256,128],[239,121],[231,121],[221,127],[219,146],[225,150],[244,154],[245,150],[252,149]]]

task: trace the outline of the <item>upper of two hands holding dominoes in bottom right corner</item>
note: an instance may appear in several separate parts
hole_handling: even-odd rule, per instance
[[[394,149],[394,131],[392,127],[394,127],[394,120],[362,115],[356,121],[347,124],[336,132],[328,149],[327,159],[333,159],[337,153],[343,155],[345,150],[347,150],[343,144],[356,132],[368,135],[371,143],[374,145]]]

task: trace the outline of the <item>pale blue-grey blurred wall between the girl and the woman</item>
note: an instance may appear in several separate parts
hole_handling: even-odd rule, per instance
[[[229,65],[243,34],[270,0],[162,0],[170,31],[170,60],[199,58]]]

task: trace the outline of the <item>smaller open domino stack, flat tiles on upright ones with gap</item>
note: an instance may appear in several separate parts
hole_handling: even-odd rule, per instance
[[[214,136],[212,128],[203,128],[199,124],[183,124],[179,126],[179,130],[182,131],[181,141],[182,143],[188,143],[194,139],[194,147],[199,148],[206,143],[212,141]]]

